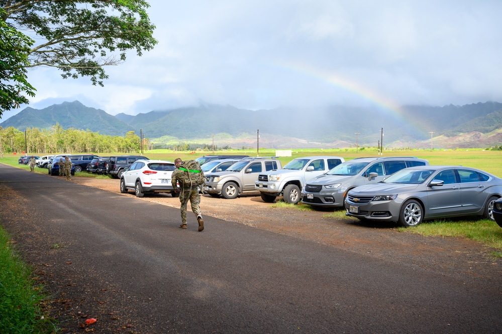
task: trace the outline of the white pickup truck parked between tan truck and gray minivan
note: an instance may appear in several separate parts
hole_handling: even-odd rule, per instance
[[[344,161],[345,159],[341,157],[332,156],[296,158],[281,170],[258,175],[255,189],[267,203],[272,203],[277,196],[282,195],[285,202],[296,204],[300,200],[300,191],[305,182],[326,173]]]

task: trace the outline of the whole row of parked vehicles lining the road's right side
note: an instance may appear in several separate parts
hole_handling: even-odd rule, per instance
[[[57,161],[65,156],[72,160],[72,174],[83,169],[110,174],[120,179],[123,193],[134,190],[138,197],[156,192],[176,196],[171,186],[175,166],[170,161],[63,154],[49,160],[49,174],[59,173]],[[39,159],[39,167],[44,158],[49,157]],[[206,177],[201,190],[213,197],[233,199],[258,191],[265,202],[283,196],[288,203],[301,200],[312,206],[344,208],[346,215],[361,220],[396,221],[406,227],[427,219],[467,215],[494,220],[502,227],[502,179],[479,169],[431,166],[416,157],[345,161],[311,156],[295,158],[284,167],[277,157],[200,158]]]

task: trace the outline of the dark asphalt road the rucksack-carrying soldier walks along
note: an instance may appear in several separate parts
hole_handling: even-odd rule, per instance
[[[0,201],[70,331],[502,332],[497,266],[442,274],[207,216],[181,230],[175,208],[6,165]]]

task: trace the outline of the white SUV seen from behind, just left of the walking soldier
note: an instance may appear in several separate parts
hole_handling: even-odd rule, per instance
[[[164,160],[136,160],[131,167],[125,168],[120,176],[120,192],[134,190],[137,197],[145,193],[169,192],[178,197],[171,185],[172,172],[176,166]]]

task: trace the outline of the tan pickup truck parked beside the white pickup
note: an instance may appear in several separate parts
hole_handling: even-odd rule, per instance
[[[277,157],[244,158],[224,172],[206,174],[204,191],[213,197],[232,199],[247,191],[255,191],[254,181],[264,171],[282,167]]]

